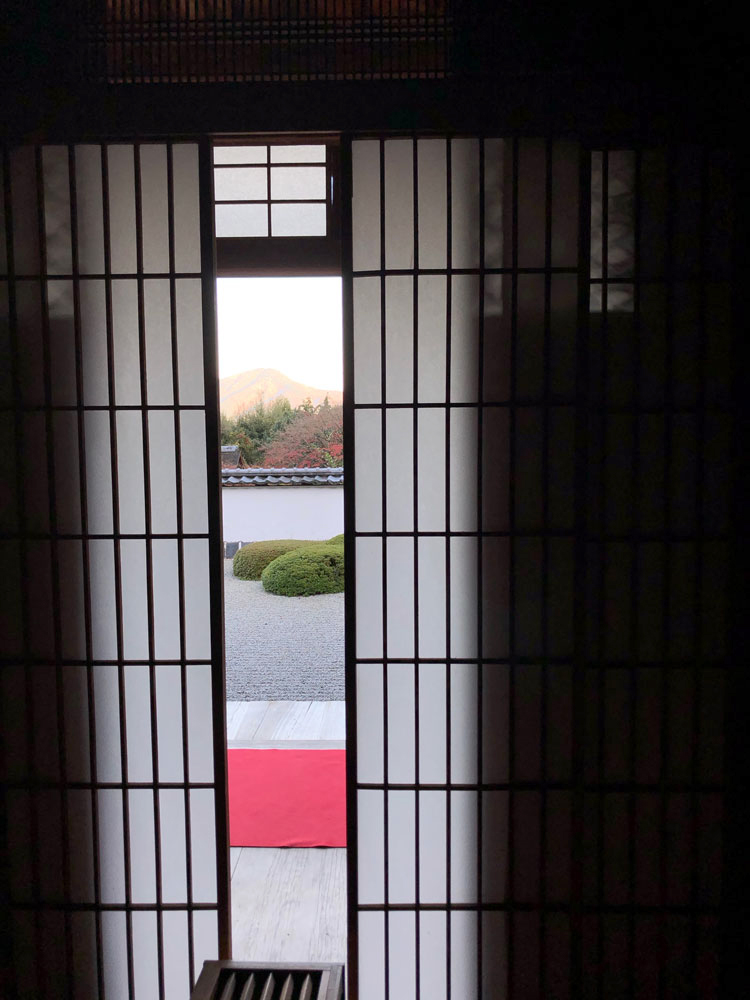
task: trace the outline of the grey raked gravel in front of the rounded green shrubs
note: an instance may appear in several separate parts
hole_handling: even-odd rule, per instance
[[[228,701],[341,701],[344,595],[277,597],[224,560]]]

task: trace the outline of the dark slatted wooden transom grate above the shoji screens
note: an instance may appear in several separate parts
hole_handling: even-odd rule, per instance
[[[74,31],[88,80],[429,79],[447,73],[452,24],[446,0],[108,0]]]

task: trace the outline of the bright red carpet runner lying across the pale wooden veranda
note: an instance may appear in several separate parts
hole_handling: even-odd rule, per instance
[[[345,847],[345,750],[228,750],[232,847]]]

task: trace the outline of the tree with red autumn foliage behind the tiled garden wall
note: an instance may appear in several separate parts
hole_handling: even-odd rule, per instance
[[[298,409],[299,412],[299,409]],[[266,450],[264,463],[271,469],[311,469],[344,464],[343,407],[325,403],[312,412],[303,410]]]

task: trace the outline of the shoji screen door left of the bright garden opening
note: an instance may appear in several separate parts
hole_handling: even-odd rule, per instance
[[[209,157],[3,160],[4,996],[185,1000],[229,948]]]

